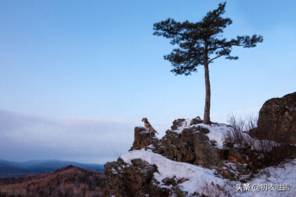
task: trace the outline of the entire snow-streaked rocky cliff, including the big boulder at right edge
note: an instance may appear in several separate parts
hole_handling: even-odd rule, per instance
[[[279,135],[286,133],[291,136],[291,141],[280,143],[296,144],[295,112],[296,92],[283,98],[268,100],[260,110],[258,128],[254,128],[254,131],[257,129],[256,131],[267,132],[269,136],[274,131]],[[234,142],[226,144],[223,133],[229,131],[234,131],[234,128],[219,123],[205,125],[200,117],[173,121],[171,129],[168,129],[161,139],[147,132],[144,127],[135,127],[134,142],[129,152],[120,156],[117,161],[105,165],[106,181],[102,195],[203,196],[206,190],[206,196],[211,196],[209,195],[211,191],[225,192],[224,196],[244,196],[242,193],[236,193],[234,188],[238,183],[250,183],[254,178],[251,172],[254,169],[253,161],[248,155],[259,158],[263,154],[272,155],[270,154],[272,150],[265,153],[256,152],[256,148],[250,144],[244,147],[237,146]],[[268,141],[268,138],[258,139],[245,131],[241,134],[246,136],[246,141],[249,139],[263,143],[266,139]],[[262,136],[265,135],[261,135],[261,138]],[[270,139],[269,142],[274,144]],[[296,159],[293,160],[296,157],[296,146],[288,145],[284,147],[291,149],[291,154],[286,158],[296,162]],[[285,166],[287,163],[281,164]],[[265,164],[265,166],[270,165]],[[281,183],[295,179],[296,184],[295,176],[287,178],[286,169],[290,169],[287,173],[295,173],[293,167],[283,170],[273,168],[275,180]],[[259,179],[260,183],[269,183],[268,176],[271,175],[263,176],[266,182]],[[207,183],[212,184],[209,186]],[[257,183],[259,181],[255,180],[254,184]],[[212,189],[209,190],[210,187]],[[231,188],[231,192],[227,192],[226,188]],[[293,192],[295,194],[296,189],[292,190]],[[286,194],[289,196],[292,193]],[[245,194],[251,195],[250,192]]]

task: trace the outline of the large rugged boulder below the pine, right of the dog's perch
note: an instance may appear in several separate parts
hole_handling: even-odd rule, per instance
[[[187,162],[205,167],[216,166],[219,161],[226,159],[224,149],[216,146],[216,142],[210,140],[207,135],[209,129],[202,126],[188,126],[186,119],[173,121],[172,130],[166,131],[166,135],[160,139],[160,147],[163,156],[178,162]],[[191,124],[200,124],[200,117],[191,120]],[[179,128],[182,131],[177,132]]]

